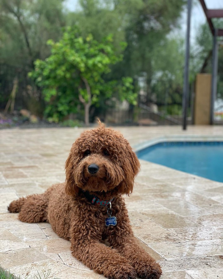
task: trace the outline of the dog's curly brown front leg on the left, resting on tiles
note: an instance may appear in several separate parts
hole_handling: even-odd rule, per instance
[[[72,255],[90,269],[112,279],[133,279],[136,272],[130,262],[112,249],[94,239],[71,239]]]

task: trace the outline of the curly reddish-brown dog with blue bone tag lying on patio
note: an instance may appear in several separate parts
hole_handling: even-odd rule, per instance
[[[15,200],[8,210],[19,212],[22,222],[49,222],[57,235],[71,241],[72,255],[99,274],[160,278],[160,265],[133,235],[122,197],[132,192],[139,168],[128,141],[101,125],[73,144],[65,183]]]

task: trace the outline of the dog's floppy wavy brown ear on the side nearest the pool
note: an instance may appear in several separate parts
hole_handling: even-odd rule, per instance
[[[133,190],[134,179],[139,172],[140,163],[129,143],[126,144],[124,152],[125,153],[122,158],[122,169],[124,171],[125,178],[119,184],[119,192],[129,196]]]

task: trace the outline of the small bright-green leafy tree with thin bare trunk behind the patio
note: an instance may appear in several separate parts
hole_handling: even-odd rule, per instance
[[[84,38],[77,28],[67,27],[59,42],[50,40],[48,44],[51,55],[46,60],[35,61],[35,70],[30,77],[43,88],[45,100],[49,102],[46,114],[51,120],[58,122],[77,112],[80,101],[88,125],[89,108],[98,103],[100,95],[136,103],[137,94],[133,93],[131,78],[124,77],[122,83],[104,81],[110,65],[122,59],[121,55],[115,54],[111,36],[98,42],[91,34]]]

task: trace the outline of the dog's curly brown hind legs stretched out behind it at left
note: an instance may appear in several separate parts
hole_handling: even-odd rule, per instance
[[[48,198],[46,193],[34,194],[11,202],[9,212],[19,212],[18,219],[27,223],[47,220]]]

